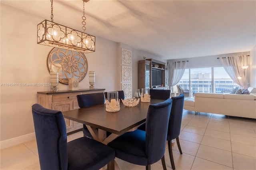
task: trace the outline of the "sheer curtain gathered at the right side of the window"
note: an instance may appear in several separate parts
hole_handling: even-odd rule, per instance
[[[249,84],[246,79],[246,70],[242,69],[242,66],[246,65],[246,61],[247,58],[244,55],[220,58],[220,62],[230,78],[243,89],[247,89]]]

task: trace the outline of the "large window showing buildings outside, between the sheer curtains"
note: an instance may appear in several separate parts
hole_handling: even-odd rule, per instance
[[[178,85],[190,90],[190,97],[194,93],[230,93],[238,86],[223,67],[185,69]]]

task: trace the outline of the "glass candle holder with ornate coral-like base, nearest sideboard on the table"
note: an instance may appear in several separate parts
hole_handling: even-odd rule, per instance
[[[110,91],[107,94],[108,97],[106,99],[106,111],[120,111],[120,100],[118,99],[118,91]]]

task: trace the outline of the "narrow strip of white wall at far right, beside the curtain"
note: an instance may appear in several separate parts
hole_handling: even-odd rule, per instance
[[[256,46],[250,51],[250,86],[256,87]]]

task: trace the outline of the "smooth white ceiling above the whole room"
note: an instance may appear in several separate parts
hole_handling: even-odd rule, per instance
[[[50,0],[1,3],[50,20]],[[82,3],[54,0],[54,22],[82,31]],[[255,0],[90,0],[85,10],[88,34],[164,59],[245,52],[256,45]]]

